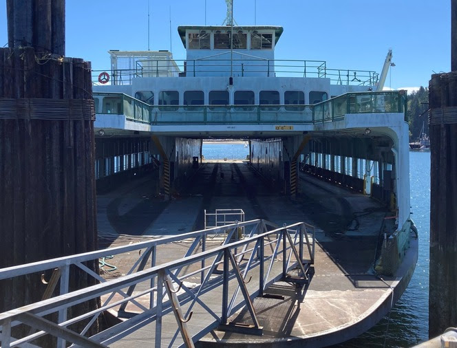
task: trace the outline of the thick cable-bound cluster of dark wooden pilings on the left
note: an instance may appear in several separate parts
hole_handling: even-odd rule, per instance
[[[10,47],[0,49],[0,268],[97,248],[90,64],[59,56],[64,0],[7,0],[7,12]],[[71,274],[70,291],[95,283],[83,272]],[[0,312],[39,301],[40,275],[0,281]],[[97,305],[79,305],[70,316]]]

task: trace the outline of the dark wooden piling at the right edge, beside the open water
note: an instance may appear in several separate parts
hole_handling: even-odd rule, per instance
[[[457,326],[457,72],[429,82],[429,336]]]

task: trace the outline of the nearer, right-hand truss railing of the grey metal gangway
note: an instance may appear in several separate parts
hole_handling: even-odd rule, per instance
[[[228,226],[223,226],[222,228],[227,229],[227,227]],[[265,225],[262,227],[265,228]],[[312,241],[310,241],[308,229],[312,230]],[[228,236],[228,239],[231,237],[231,235],[233,235],[235,230],[237,230],[237,224],[235,224],[235,228],[232,228],[231,233]],[[255,296],[257,296],[257,294],[262,294],[269,284],[281,278],[281,276],[288,276],[287,272],[295,268],[297,268],[298,272],[301,272],[301,279],[304,279],[306,281],[310,280],[308,276],[308,267],[312,265],[312,263],[314,263],[315,229],[308,224],[297,223],[292,224],[290,226],[283,226],[275,230],[262,230],[259,232],[259,234],[255,236],[251,235],[250,237],[247,237],[242,241],[227,243],[224,246],[219,246],[212,250],[205,250],[203,252],[191,254],[186,257],[183,257],[182,259],[169,261],[161,265],[156,265],[147,270],[141,270],[134,274],[128,274],[118,279],[114,279],[97,285],[92,285],[90,287],[86,287],[85,289],[76,290],[74,292],[56,296],[54,298],[50,298],[39,303],[34,303],[32,305],[27,305],[25,307],[13,309],[9,312],[4,312],[0,314],[0,325],[2,325],[2,334],[0,337],[2,340],[2,347],[10,347],[10,345],[19,345],[25,342],[30,342],[45,334],[51,334],[52,336],[58,337],[60,339],[62,347],[65,347],[64,340],[74,342],[78,345],[100,347],[100,344],[109,344],[110,342],[119,340],[120,338],[127,336],[127,334],[129,334],[131,330],[139,329],[140,327],[147,325],[147,323],[151,323],[152,321],[156,321],[156,347],[160,347],[160,338],[162,334],[162,316],[171,312],[172,310],[175,311],[176,308],[180,309],[181,305],[183,305],[184,303],[189,303],[189,301],[192,302],[189,308],[187,309],[187,314],[185,318],[190,318],[190,311],[195,303],[199,303],[200,305],[202,305],[202,307],[206,309],[206,312],[211,314],[213,318],[216,318],[216,320],[213,320],[213,322],[210,325],[204,327],[204,329],[202,329],[198,334],[195,334],[192,340],[197,340],[202,336],[202,334],[205,334],[209,331],[209,329],[212,329],[217,325],[227,325],[227,320],[229,316],[233,314],[237,309],[243,307],[244,305],[246,305],[246,307],[248,308],[248,312],[251,314],[251,317],[253,318],[253,322],[255,323],[255,329],[262,330],[262,328],[259,326],[257,317],[255,315],[255,310],[253,309],[253,305],[251,302],[252,299]],[[275,239],[273,239],[273,241],[270,241],[270,237],[274,237]],[[299,240],[298,243],[297,239]],[[273,254],[266,255],[264,253],[265,247],[272,243],[276,244],[275,250]],[[295,247],[297,244],[299,246],[298,250]],[[248,246],[253,246],[253,248],[248,249]],[[280,246],[282,246],[282,248],[280,248]],[[241,253],[237,253],[237,248],[244,249]],[[233,252],[233,250],[235,250],[235,252]],[[308,251],[309,257],[309,259],[306,259],[306,261],[303,258],[305,251]],[[251,252],[249,260],[243,263],[242,256],[249,252]],[[281,254],[282,256],[282,272],[279,271],[279,274],[273,276],[272,279],[269,279],[270,271],[272,270],[272,265],[274,264],[274,261],[279,254]],[[187,288],[182,283],[182,279],[189,276],[188,274],[178,276],[178,272],[173,272],[177,270],[182,270],[183,268],[185,268],[185,266],[190,266],[195,263],[202,262],[203,265],[206,259],[211,259],[213,257],[215,257],[215,259],[209,267],[209,270],[205,272],[204,280],[200,285],[194,287],[192,290]],[[295,262],[291,262],[292,257],[295,258]],[[264,272],[264,263],[268,260],[270,260],[268,272]],[[224,265],[224,272],[221,276],[216,277],[217,279],[214,279],[213,271],[217,267],[218,263],[222,263]],[[229,272],[230,264],[233,267],[233,270],[231,272]],[[248,287],[246,287],[244,277],[250,270],[253,270],[253,268],[257,266],[259,266],[259,284],[258,286],[253,285],[254,288],[249,287],[248,289]],[[116,303],[109,303],[109,301],[106,301],[100,308],[85,313],[76,318],[72,318],[70,320],[66,320],[65,318],[65,320],[61,320],[59,316],[58,323],[52,323],[51,321],[45,320],[43,318],[43,316],[47,314],[60,312],[62,310],[66,312],[67,309],[79,303],[89,301],[93,298],[102,296],[103,294],[119,292],[125,287],[129,287],[137,283],[151,280],[154,277],[158,277],[158,285],[151,285],[151,287],[149,287],[145,291],[140,292],[140,294],[125,297],[122,300],[117,301]],[[241,301],[239,303],[235,301],[238,292],[237,290],[232,297],[232,301],[229,302],[227,290],[229,286],[229,281],[231,280],[237,281],[237,289],[241,290],[244,297],[244,301]],[[178,284],[180,287],[182,286],[182,288],[184,289],[184,294],[180,296],[173,295],[171,296],[171,298],[169,298],[168,301],[164,301],[163,296],[165,292],[167,292],[168,294],[174,294],[176,292],[174,290],[173,282]],[[220,286],[222,286],[222,314],[219,315],[216,314],[212,309],[210,309],[208,305],[206,305],[199,296],[206,292],[213,291]],[[151,292],[157,292],[158,301],[156,305],[151,306],[149,309],[143,309],[143,312],[141,314],[129,318],[124,322],[115,325],[114,327],[111,327],[105,331],[102,331],[99,334],[92,336],[91,338],[85,337],[85,333],[88,327],[91,323],[94,322],[94,318],[96,318],[101,312],[105,311],[108,308],[114,307],[114,305],[127,303],[131,301],[133,298],[138,298],[139,296]],[[177,320],[184,318],[178,316],[178,314],[176,313],[175,315]],[[90,318],[91,316],[92,320],[81,333],[77,333],[75,331],[67,329],[68,325],[74,324],[86,318]],[[39,329],[41,331],[35,334],[29,334],[28,336],[20,338],[19,340],[16,340],[14,338],[14,342],[11,342],[11,327],[19,325],[20,323],[25,323],[26,325],[29,325],[30,327],[33,327],[34,329]],[[185,323],[182,322],[182,324]],[[180,328],[179,331],[182,334],[183,338],[185,335],[189,335],[186,325],[178,325],[178,327]],[[187,336],[187,338],[189,338],[189,336]],[[186,340],[184,340],[184,342],[186,342]]]

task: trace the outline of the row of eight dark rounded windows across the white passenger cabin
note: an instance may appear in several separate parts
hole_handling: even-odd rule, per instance
[[[180,100],[182,97],[182,100]],[[206,98],[205,98],[206,97]],[[250,105],[261,105],[264,109],[278,110],[279,105],[286,105],[286,110],[297,110],[297,107],[288,105],[306,105],[304,91],[234,91],[233,94],[227,90],[209,91],[205,96],[204,91],[184,91],[180,96],[179,91],[160,91],[158,100],[154,100],[153,91],[137,91],[135,98],[146,102],[149,105],[158,105],[159,109],[178,109],[178,105],[184,105],[187,109],[198,109],[202,105],[241,105],[244,109],[253,109]],[[308,104],[317,104],[328,99],[325,91],[310,91]],[[304,107],[301,107],[304,109]]]

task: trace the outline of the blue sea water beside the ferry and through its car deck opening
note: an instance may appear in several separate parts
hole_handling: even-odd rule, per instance
[[[244,160],[244,144],[203,144],[208,160]],[[378,325],[340,347],[411,347],[428,339],[430,239],[430,153],[410,151],[410,194],[413,220],[419,232],[416,271],[400,300]]]

